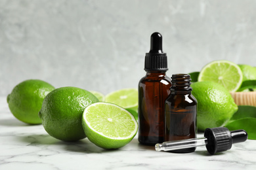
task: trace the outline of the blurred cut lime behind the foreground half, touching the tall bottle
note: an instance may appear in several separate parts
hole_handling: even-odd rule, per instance
[[[106,95],[106,102],[114,103],[125,109],[138,107],[138,90],[135,88],[125,88]]]

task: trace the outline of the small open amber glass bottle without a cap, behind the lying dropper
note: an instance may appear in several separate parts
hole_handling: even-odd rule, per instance
[[[197,101],[191,94],[190,75],[177,74],[172,77],[171,94],[165,101],[165,141],[196,138]],[[194,152],[193,148],[171,152]]]

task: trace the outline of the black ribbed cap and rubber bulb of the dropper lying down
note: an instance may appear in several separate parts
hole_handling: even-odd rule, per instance
[[[210,154],[229,150],[234,143],[242,143],[247,140],[245,130],[229,131],[226,127],[207,128],[204,131],[207,138],[206,148]]]

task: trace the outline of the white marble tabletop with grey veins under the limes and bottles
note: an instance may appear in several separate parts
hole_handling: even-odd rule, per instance
[[[256,169],[256,141],[234,144],[211,156],[205,147],[189,154],[156,152],[137,137],[118,150],[98,148],[88,139],[65,143],[43,126],[29,126],[12,116],[0,97],[0,169]]]

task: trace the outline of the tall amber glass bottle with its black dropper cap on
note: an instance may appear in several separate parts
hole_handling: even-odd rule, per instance
[[[146,53],[146,76],[139,82],[139,142],[154,145],[164,139],[164,103],[170,93],[171,78],[165,75],[167,56],[160,33],[153,33]]]

